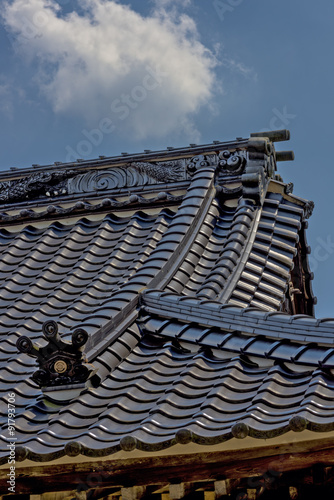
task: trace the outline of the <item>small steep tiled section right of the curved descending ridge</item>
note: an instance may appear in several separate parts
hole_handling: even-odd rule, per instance
[[[302,208],[268,193],[207,220],[167,289],[240,307],[280,307],[297,253]],[[211,223],[211,224],[210,224]]]

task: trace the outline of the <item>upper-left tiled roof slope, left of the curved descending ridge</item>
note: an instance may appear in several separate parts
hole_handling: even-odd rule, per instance
[[[32,225],[0,234],[2,332],[38,338],[47,318],[66,329],[80,324],[93,333],[122,305],[111,302],[166,232],[173,212],[133,212],[66,224]],[[16,353],[15,338],[0,349]]]

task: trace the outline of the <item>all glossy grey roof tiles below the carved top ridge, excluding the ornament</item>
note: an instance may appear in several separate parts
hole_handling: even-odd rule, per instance
[[[304,211],[270,192],[263,208],[238,202],[239,192],[231,207],[215,199],[214,177],[214,164],[195,172],[175,212],[127,205],[125,217],[89,220],[85,202],[85,218],[1,231],[2,401],[15,385],[18,443],[31,460],[60,458],[73,440],[83,454],[112,454],[129,435],[139,449],[159,450],[185,428],[194,442],[215,444],[239,420],[262,438],[287,431],[293,415],[319,430],[331,425],[333,383],[319,366],[332,366],[333,325],[266,315],[284,299]],[[138,304],[150,286],[162,291]],[[41,342],[50,318],[64,339],[87,329],[102,377],[66,404],[48,404],[29,378],[36,366],[15,354],[20,335]]]

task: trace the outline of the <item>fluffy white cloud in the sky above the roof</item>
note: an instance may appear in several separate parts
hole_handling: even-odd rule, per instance
[[[136,138],[196,134],[192,118],[212,100],[217,61],[194,20],[173,0],[155,0],[147,17],[112,0],[81,8],[65,15],[54,0],[11,0],[2,11],[54,112],[111,118]]]

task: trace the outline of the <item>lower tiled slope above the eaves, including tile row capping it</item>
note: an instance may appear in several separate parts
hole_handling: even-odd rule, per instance
[[[27,397],[27,388],[17,386],[23,456],[56,459],[72,453],[72,442],[84,455],[101,457],[135,447],[158,451],[182,440],[212,445],[334,429],[333,347],[151,316],[140,325],[139,342],[130,327],[99,357],[102,367],[115,367],[101,385],[66,407],[48,405],[31,387]]]

